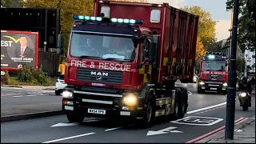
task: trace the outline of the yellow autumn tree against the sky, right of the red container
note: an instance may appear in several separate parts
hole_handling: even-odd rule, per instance
[[[211,18],[209,12],[202,10],[199,6],[185,6],[182,10],[199,16],[198,37],[201,38],[203,46],[208,50],[208,46],[216,42],[216,21]]]

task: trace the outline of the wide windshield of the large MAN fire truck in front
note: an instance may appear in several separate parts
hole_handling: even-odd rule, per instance
[[[135,48],[131,37],[73,32],[70,41],[70,55],[133,61]]]

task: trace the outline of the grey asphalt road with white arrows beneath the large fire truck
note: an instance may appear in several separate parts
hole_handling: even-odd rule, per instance
[[[177,85],[184,86],[184,84]],[[69,123],[65,115],[58,115],[46,118],[2,122],[1,142],[184,143],[224,126],[226,106],[223,102],[226,102],[226,95],[197,94],[196,84],[185,85],[192,94],[189,96],[189,112],[185,115],[186,118],[183,118],[183,120],[176,122],[158,120],[154,126],[148,129],[141,129],[138,125],[133,125],[133,123],[124,122],[123,120],[108,121],[99,118],[85,118],[82,124]],[[218,104],[221,105],[216,107]],[[211,108],[209,106],[211,106]],[[248,111],[242,111],[242,107],[239,106],[237,101],[235,112],[235,119],[254,115],[255,98],[252,98],[252,107],[250,107]],[[215,118],[221,119],[219,119],[220,121],[218,122]],[[206,125],[206,121],[210,122],[210,124],[208,124],[209,126],[203,126]],[[147,136],[147,134],[155,135]]]

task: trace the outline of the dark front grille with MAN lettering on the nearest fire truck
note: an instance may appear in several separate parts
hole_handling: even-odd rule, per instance
[[[93,70],[93,69],[78,67],[77,80],[82,82],[101,82],[101,83],[107,83],[107,84],[122,84],[122,71]]]

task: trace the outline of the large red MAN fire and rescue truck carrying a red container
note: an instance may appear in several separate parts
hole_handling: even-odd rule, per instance
[[[198,16],[162,5],[94,1],[94,16],[74,15],[62,109],[70,122],[85,117],[183,118],[193,78]],[[62,54],[63,36],[58,36]]]

